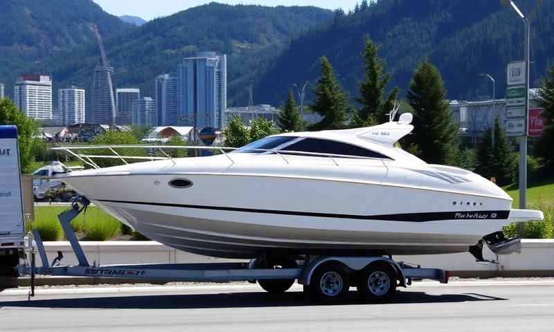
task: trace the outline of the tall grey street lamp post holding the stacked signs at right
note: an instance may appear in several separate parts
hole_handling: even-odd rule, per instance
[[[521,136],[519,139],[519,208],[525,209],[527,205],[527,131],[528,131],[528,120],[529,120],[529,64],[530,64],[530,44],[531,44],[531,22],[539,9],[539,6],[542,4],[542,0],[537,0],[533,12],[526,17],[516,4],[512,0],[501,0],[503,5],[512,6],[517,15],[521,17],[521,20],[525,24],[525,65],[526,65],[526,82],[525,82],[525,131],[524,136]],[[521,231],[521,225],[520,225]],[[521,234],[521,232],[520,232]]]

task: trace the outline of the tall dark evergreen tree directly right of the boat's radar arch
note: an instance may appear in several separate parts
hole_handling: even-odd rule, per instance
[[[458,127],[445,100],[446,89],[438,69],[427,60],[415,69],[406,98],[414,111],[413,134],[406,137],[418,146],[427,163],[444,164],[457,147]]]

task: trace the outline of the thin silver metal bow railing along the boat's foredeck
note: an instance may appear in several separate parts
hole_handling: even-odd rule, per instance
[[[283,158],[285,163],[290,164],[289,160],[287,160],[285,155],[296,155],[296,156],[314,156],[314,157],[326,157],[330,158],[334,165],[340,166],[337,162],[337,158],[350,158],[350,159],[369,159],[369,160],[380,160],[384,167],[387,167],[385,160],[382,158],[372,158],[372,157],[364,157],[364,156],[352,156],[348,154],[322,154],[317,152],[305,152],[305,151],[289,151],[289,150],[278,150],[278,149],[255,149],[255,148],[245,148],[245,147],[199,147],[199,146],[182,146],[182,145],[84,145],[84,146],[77,146],[77,147],[52,147],[52,150],[60,150],[60,151],[66,151],[67,153],[71,154],[71,156],[74,156],[75,158],[78,158],[83,163],[89,165],[90,167],[93,167],[94,169],[100,169],[101,167],[98,166],[96,163],[94,163],[93,159],[95,158],[109,158],[109,159],[120,159],[125,163],[125,165],[129,164],[127,160],[172,160],[175,164],[174,158],[170,156],[170,154],[167,154],[164,149],[184,149],[184,150],[213,150],[213,151],[219,151],[221,154],[226,156],[226,158],[231,161],[231,165],[235,164],[235,160],[232,158],[232,152],[233,151],[240,151],[243,150],[243,152],[247,153],[247,151],[252,152],[267,152],[270,154],[276,154]],[[80,150],[92,150],[92,149],[105,149],[107,151],[110,151],[112,154],[84,154],[80,152]],[[152,153],[149,156],[123,156],[121,154],[118,154],[116,149],[150,149]],[[228,153],[227,151],[231,150],[231,153]],[[163,156],[155,156],[156,151],[160,151]],[[388,159],[387,159],[388,160]]]

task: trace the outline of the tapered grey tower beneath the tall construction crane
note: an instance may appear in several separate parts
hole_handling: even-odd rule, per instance
[[[111,84],[114,68],[96,66],[91,91],[91,111],[87,122],[113,124],[116,120],[116,103]]]

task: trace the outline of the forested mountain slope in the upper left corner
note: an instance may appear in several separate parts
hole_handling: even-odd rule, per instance
[[[86,45],[94,22],[109,37],[132,29],[92,0],[8,0],[0,10],[0,82],[11,93],[15,77],[30,62],[42,62],[68,48]]]

